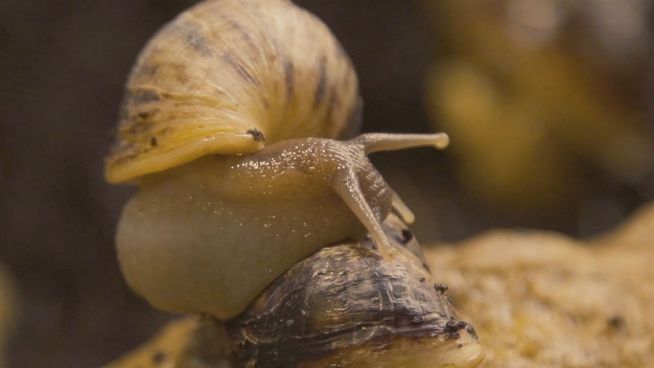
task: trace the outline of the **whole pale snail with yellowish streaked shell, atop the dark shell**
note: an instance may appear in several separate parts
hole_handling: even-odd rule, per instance
[[[126,87],[106,178],[132,182],[116,235],[128,284],[152,305],[226,320],[335,242],[411,211],[366,154],[447,135],[364,134],[352,64],[287,0],[211,0],[163,27]]]

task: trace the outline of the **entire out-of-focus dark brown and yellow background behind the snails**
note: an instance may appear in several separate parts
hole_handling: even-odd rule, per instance
[[[0,1],[0,367],[99,366],[172,317],[121,279],[134,189],[102,160],[139,49],[192,3]],[[450,134],[444,153],[373,157],[423,243],[589,237],[654,197],[652,1],[296,3],[352,57],[365,131]]]

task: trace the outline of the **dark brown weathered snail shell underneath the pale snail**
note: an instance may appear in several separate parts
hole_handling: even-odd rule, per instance
[[[369,241],[321,249],[275,280],[227,321],[237,367],[475,367],[483,352],[471,325],[435,286],[408,229],[389,217],[399,250]]]

